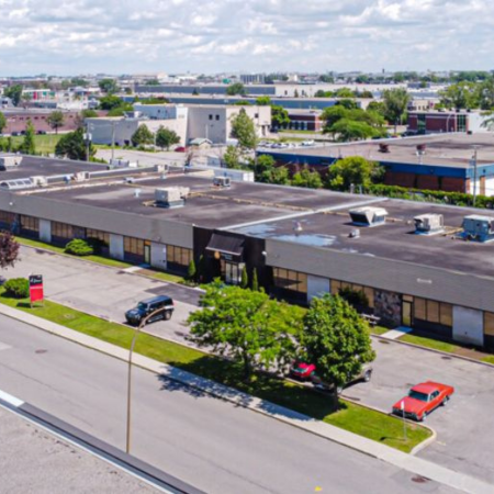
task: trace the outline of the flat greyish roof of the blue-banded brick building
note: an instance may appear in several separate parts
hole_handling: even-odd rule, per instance
[[[379,150],[380,144],[389,145],[389,153]],[[416,146],[425,144],[425,154],[417,156]],[[397,164],[436,165],[470,168],[473,151],[478,150],[478,164],[494,164],[494,134],[444,134],[414,137],[366,141],[360,143],[328,144],[303,149],[262,149],[261,153],[287,155],[288,157],[345,158],[362,156],[369,160]]]

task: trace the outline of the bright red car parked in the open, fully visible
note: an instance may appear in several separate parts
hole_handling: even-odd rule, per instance
[[[393,405],[393,414],[414,420],[425,420],[439,405],[446,406],[454,393],[454,388],[438,382],[427,381],[413,386],[408,396],[400,400]]]

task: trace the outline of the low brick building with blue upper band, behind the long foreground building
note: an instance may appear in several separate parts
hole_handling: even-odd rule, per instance
[[[323,171],[338,159],[361,156],[385,168],[388,186],[494,195],[494,139],[487,133],[261,148],[258,154],[272,156],[279,165],[308,165]]]

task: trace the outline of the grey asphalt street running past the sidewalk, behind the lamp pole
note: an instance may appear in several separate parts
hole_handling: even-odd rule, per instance
[[[0,389],[120,448],[124,362],[0,316]],[[276,419],[134,370],[133,454],[212,493],[449,492]]]

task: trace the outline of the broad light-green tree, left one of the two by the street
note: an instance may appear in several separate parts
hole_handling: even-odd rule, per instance
[[[220,281],[206,288],[199,304],[201,308],[188,318],[192,340],[242,363],[245,379],[256,367],[273,369],[293,358],[300,307]]]

